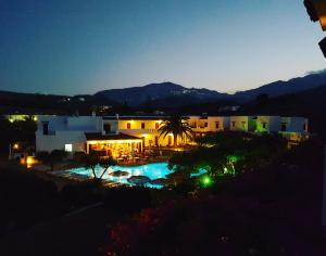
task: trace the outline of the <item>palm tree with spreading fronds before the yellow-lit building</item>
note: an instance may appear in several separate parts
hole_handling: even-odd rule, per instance
[[[168,119],[165,119],[159,128],[160,137],[163,136],[163,139],[172,133],[173,135],[173,145],[177,146],[177,137],[186,136],[187,138],[192,138],[192,129],[189,124],[179,115],[173,115]]]

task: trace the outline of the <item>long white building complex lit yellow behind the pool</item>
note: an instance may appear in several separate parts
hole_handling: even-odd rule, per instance
[[[143,148],[173,145],[173,135],[160,136],[159,128],[167,116],[39,116],[36,151],[141,152]],[[244,131],[279,133],[289,140],[305,138],[308,119],[280,116],[185,116],[193,138],[206,132]],[[178,138],[178,144],[187,144]],[[117,153],[114,153],[117,154]]]

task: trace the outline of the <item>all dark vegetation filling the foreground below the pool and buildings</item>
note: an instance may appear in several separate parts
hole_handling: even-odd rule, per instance
[[[290,150],[279,137],[234,132],[211,133],[198,142],[198,149],[171,158],[176,171],[162,190],[108,189],[92,179],[59,191],[39,172],[1,167],[0,254],[319,256],[326,252],[321,229],[324,149],[317,138]],[[193,176],[201,170],[206,172]],[[98,203],[98,210],[82,210]],[[76,219],[80,222],[73,225]],[[34,231],[40,234],[26,244],[40,223],[43,228]],[[53,226],[62,227],[55,239],[40,240]],[[22,244],[26,247],[16,246]],[[74,244],[78,246],[71,251]]]

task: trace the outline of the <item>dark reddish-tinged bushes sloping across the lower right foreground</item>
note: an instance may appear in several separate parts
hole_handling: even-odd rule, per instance
[[[235,178],[221,177],[209,187],[198,185],[181,197],[141,210],[111,230],[106,252],[323,255],[322,169],[323,145],[306,141],[268,164]]]

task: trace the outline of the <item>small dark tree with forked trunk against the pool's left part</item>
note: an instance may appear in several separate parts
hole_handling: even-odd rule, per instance
[[[82,159],[85,168],[89,168],[92,171],[92,177],[93,179],[102,179],[104,174],[108,171],[108,169],[111,166],[116,165],[116,161],[112,158],[112,156],[109,157],[100,157],[97,154],[89,154],[85,155]],[[96,167],[100,166],[102,168],[102,171],[100,176],[97,175],[96,172]]]

